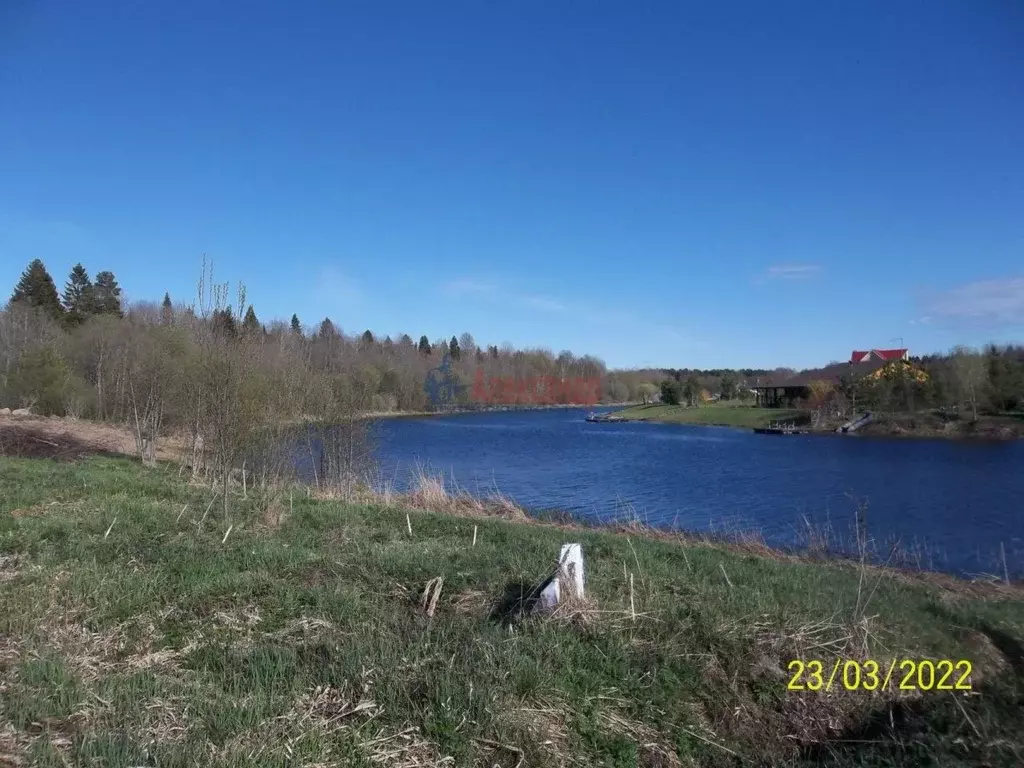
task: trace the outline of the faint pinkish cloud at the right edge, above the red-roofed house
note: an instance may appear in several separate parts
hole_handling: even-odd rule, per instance
[[[924,297],[929,319],[986,329],[1024,327],[1024,278],[984,280]]]

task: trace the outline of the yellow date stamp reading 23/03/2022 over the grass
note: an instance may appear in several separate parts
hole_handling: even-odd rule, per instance
[[[879,663],[837,658],[795,658],[786,666],[791,678],[787,690],[971,690],[973,665],[966,658],[894,658]]]

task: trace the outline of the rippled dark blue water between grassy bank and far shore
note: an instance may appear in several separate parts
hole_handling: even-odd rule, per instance
[[[383,478],[426,466],[480,496],[599,520],[635,516],[698,531],[758,530],[834,546],[854,541],[855,510],[881,558],[893,542],[922,567],[1024,573],[1024,441],[966,442],[668,424],[588,424],[582,410],[387,419]]]

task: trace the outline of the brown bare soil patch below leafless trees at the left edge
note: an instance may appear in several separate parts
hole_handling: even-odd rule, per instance
[[[157,458],[183,454],[184,440],[162,439]],[[0,456],[76,461],[95,454],[134,456],[135,437],[127,427],[55,417],[0,417]]]

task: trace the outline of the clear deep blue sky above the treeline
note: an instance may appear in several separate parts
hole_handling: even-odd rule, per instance
[[[611,366],[1024,340],[1013,0],[0,5],[0,285],[205,252],[261,318]]]

